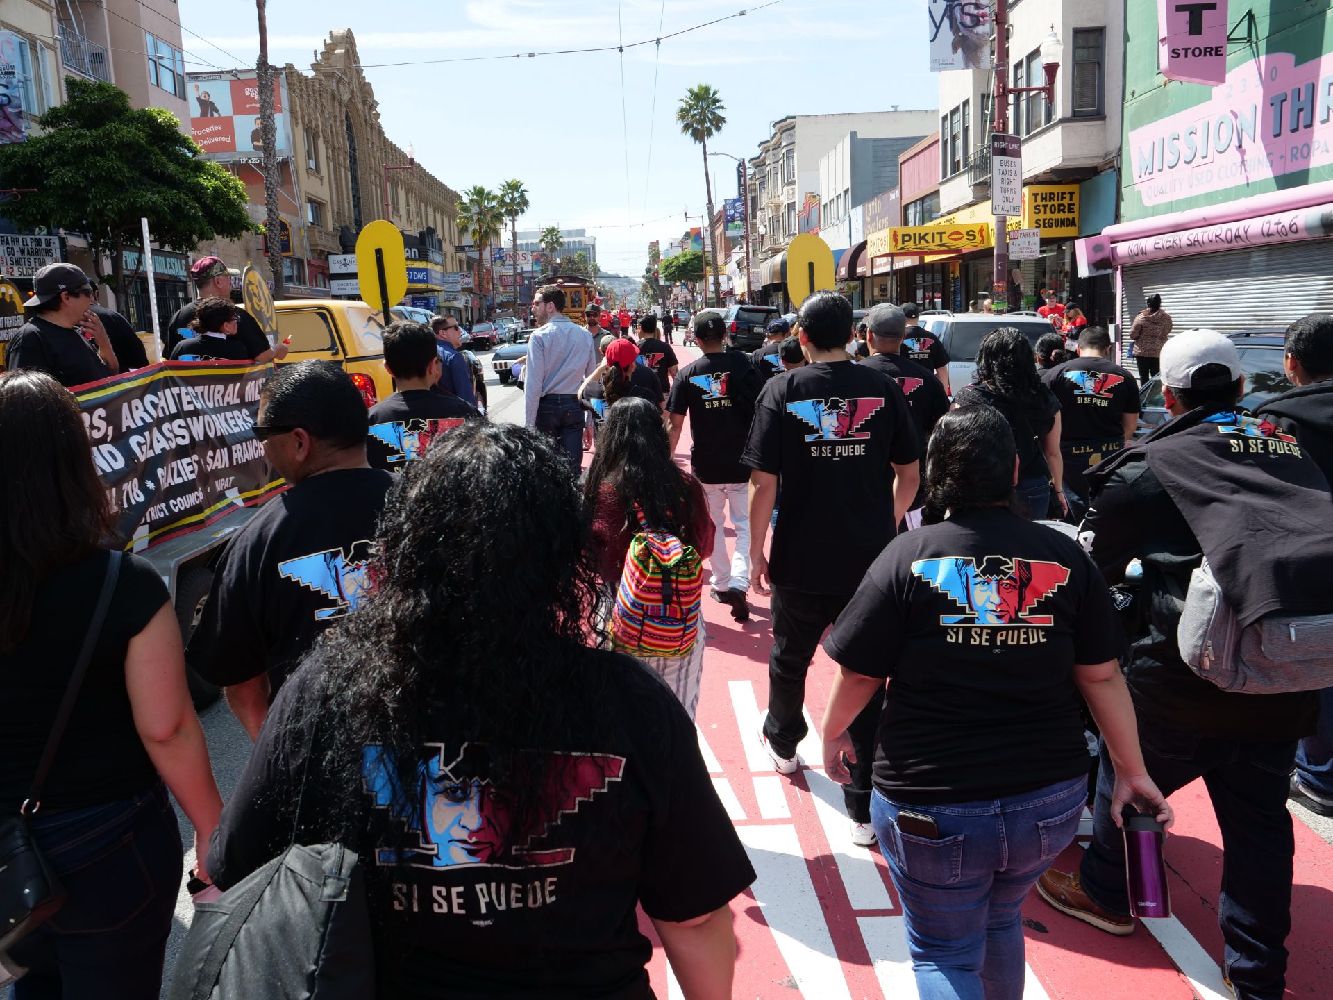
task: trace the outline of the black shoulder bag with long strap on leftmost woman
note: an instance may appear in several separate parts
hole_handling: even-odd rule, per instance
[[[41,808],[41,788],[56,760],[60,739],[65,735],[69,715],[79,699],[79,688],[83,687],[88,664],[92,661],[92,651],[97,647],[101,625],[107,620],[107,608],[111,607],[116,577],[120,575],[121,556],[121,552],[111,552],[107,560],[107,577],[101,581],[101,593],[88,623],[88,633],[75,661],[73,673],[69,675],[56,721],[51,725],[47,748],[41,752],[37,773],[32,779],[32,791],[19,807],[17,816],[0,821],[0,955],[15,941],[36,931],[65,901],[60,880],[41,856],[32,831],[28,829],[28,817],[35,816]]]

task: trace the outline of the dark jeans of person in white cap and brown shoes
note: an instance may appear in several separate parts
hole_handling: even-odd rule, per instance
[[[1281,1000],[1284,941],[1292,929],[1296,836],[1286,795],[1296,744],[1218,740],[1160,725],[1142,727],[1138,741],[1148,776],[1162,795],[1204,779],[1222,832],[1217,907],[1225,944],[1222,969],[1241,1000]],[[1093,840],[1078,871],[1089,897],[1128,915],[1125,841],[1109,815],[1114,785],[1116,771],[1102,743]]]

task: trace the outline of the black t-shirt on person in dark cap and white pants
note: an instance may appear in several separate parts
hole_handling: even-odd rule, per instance
[[[714,351],[676,375],[666,409],[689,413],[689,465],[700,483],[746,483],[741,463],[749,437],[758,376],[737,351]]]

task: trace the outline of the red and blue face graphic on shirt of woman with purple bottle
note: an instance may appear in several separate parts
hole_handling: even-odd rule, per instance
[[[958,608],[940,616],[941,625],[1037,625],[1054,623],[1050,615],[1032,611],[1069,581],[1069,569],[1058,563],[986,556],[918,559],[912,572]]]

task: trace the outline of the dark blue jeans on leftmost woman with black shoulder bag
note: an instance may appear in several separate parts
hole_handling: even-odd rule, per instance
[[[156,1000],[183,868],[167,789],[39,813],[31,829],[68,897],[11,949],[29,969],[13,1000]]]

